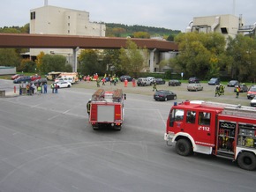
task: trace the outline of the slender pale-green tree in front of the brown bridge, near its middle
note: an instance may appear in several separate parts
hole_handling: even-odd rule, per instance
[[[142,54],[147,54],[147,50],[138,48],[135,42],[128,40],[126,41],[126,49],[120,49],[120,69],[124,73],[131,74],[137,78],[138,73],[144,69],[144,58]]]

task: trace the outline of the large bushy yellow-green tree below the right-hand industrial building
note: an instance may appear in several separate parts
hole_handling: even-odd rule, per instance
[[[173,64],[189,76],[200,78],[219,77],[225,68],[225,39],[219,33],[179,33],[175,41],[179,44],[179,55]],[[181,72],[181,71],[179,71]]]

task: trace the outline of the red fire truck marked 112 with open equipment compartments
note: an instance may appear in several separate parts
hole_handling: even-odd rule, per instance
[[[179,155],[213,154],[256,168],[256,108],[184,101],[171,107],[164,140]]]

